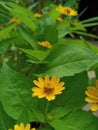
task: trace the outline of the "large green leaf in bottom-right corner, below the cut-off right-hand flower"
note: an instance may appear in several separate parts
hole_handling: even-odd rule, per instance
[[[49,124],[55,130],[98,130],[98,118],[86,111],[72,112],[65,119],[54,120]]]

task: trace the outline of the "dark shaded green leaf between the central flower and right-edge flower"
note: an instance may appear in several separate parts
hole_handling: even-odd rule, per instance
[[[53,101],[55,106],[63,106],[66,110],[81,109],[85,104],[85,90],[88,86],[88,76],[86,72],[81,72],[75,76],[64,77],[65,90]],[[62,100],[61,100],[62,99]]]

